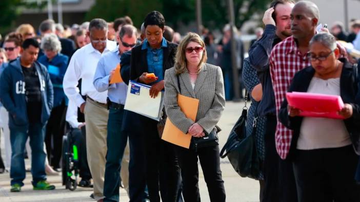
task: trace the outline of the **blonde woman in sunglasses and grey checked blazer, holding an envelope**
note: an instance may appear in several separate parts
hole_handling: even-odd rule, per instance
[[[200,201],[197,159],[202,166],[211,201],[225,201],[220,169],[216,126],[225,107],[223,73],[219,66],[206,63],[205,43],[195,33],[188,33],[179,44],[175,65],[165,71],[164,104],[168,118],[191,138],[190,149],[176,146],[182,169],[185,201]],[[199,100],[195,121],[186,118],[177,103],[177,95]],[[199,138],[212,139],[207,145]],[[212,137],[212,138],[210,138]]]

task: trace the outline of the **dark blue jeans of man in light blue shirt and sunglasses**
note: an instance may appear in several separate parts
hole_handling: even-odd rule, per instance
[[[104,201],[119,201],[120,169],[128,136],[121,129],[124,108],[109,110],[108,136],[104,181]]]

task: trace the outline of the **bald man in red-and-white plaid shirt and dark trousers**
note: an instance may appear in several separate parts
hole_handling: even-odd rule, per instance
[[[292,36],[279,42],[270,55],[270,73],[275,95],[276,114],[278,114],[281,103],[285,99],[294,74],[311,65],[307,53],[310,39],[316,34],[319,10],[312,2],[300,1],[295,4],[290,17]],[[282,201],[294,201],[293,198],[296,196],[291,161],[293,153],[289,153],[290,145],[294,141],[292,140],[292,134],[292,130],[285,128],[280,122],[277,123],[275,145],[281,158],[279,160],[279,173],[281,174],[279,175],[281,176],[279,186],[288,187],[287,191],[282,192],[284,196],[287,196]],[[296,144],[291,145],[291,148],[293,147],[296,149]]]

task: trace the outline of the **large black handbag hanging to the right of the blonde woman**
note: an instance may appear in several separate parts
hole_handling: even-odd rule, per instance
[[[220,152],[220,157],[224,159],[225,156],[228,156],[232,167],[240,176],[257,179],[260,172],[260,160],[255,143],[256,118],[254,118],[251,135],[246,136],[248,93],[246,92],[245,95],[245,106],[242,115],[232,128],[228,140]]]

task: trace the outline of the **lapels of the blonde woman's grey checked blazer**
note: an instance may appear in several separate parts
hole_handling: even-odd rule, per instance
[[[201,86],[203,86],[207,74],[208,74],[207,65],[203,64],[199,74],[197,75],[194,89],[192,88],[192,85],[191,85],[190,77],[188,74],[188,69],[185,69],[185,72],[180,75],[180,78],[182,79],[188,92],[191,94],[191,97],[196,98],[195,95],[197,94],[197,92],[199,91]]]

